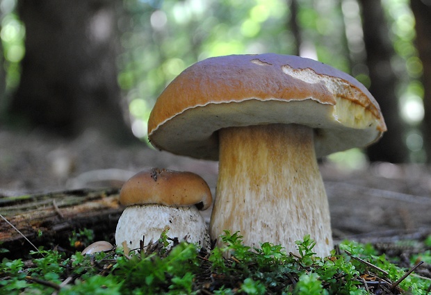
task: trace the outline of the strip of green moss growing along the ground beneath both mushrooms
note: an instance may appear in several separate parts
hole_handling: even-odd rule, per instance
[[[364,285],[368,278],[395,282],[404,273],[371,245],[340,244],[327,258],[313,252],[308,235],[296,242],[298,255],[268,242],[242,244],[239,233],[225,232],[224,246],[200,253],[194,244],[168,248],[167,232],[142,251],[66,255],[32,251],[33,260],[4,259],[0,264],[0,294],[378,294],[383,289]],[[429,255],[425,254],[425,255]],[[227,258],[229,257],[229,258]],[[366,261],[366,263],[364,262]],[[69,280],[67,283],[65,281]],[[388,283],[389,282],[389,283]],[[407,276],[396,292],[427,294],[429,282]]]

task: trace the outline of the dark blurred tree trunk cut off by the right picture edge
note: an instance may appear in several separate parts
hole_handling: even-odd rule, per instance
[[[427,162],[431,163],[431,1],[411,0],[410,6],[416,19],[416,46],[423,65],[423,142]]]

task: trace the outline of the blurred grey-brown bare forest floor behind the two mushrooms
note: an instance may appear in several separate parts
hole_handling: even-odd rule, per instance
[[[88,130],[74,140],[0,129],[0,197],[76,188],[121,187],[141,169],[200,174],[215,190],[217,162],[154,151],[144,143],[117,146]],[[431,173],[421,165],[375,163],[345,171],[320,166],[335,240],[390,243],[431,233]],[[210,211],[204,212],[209,219]]]

